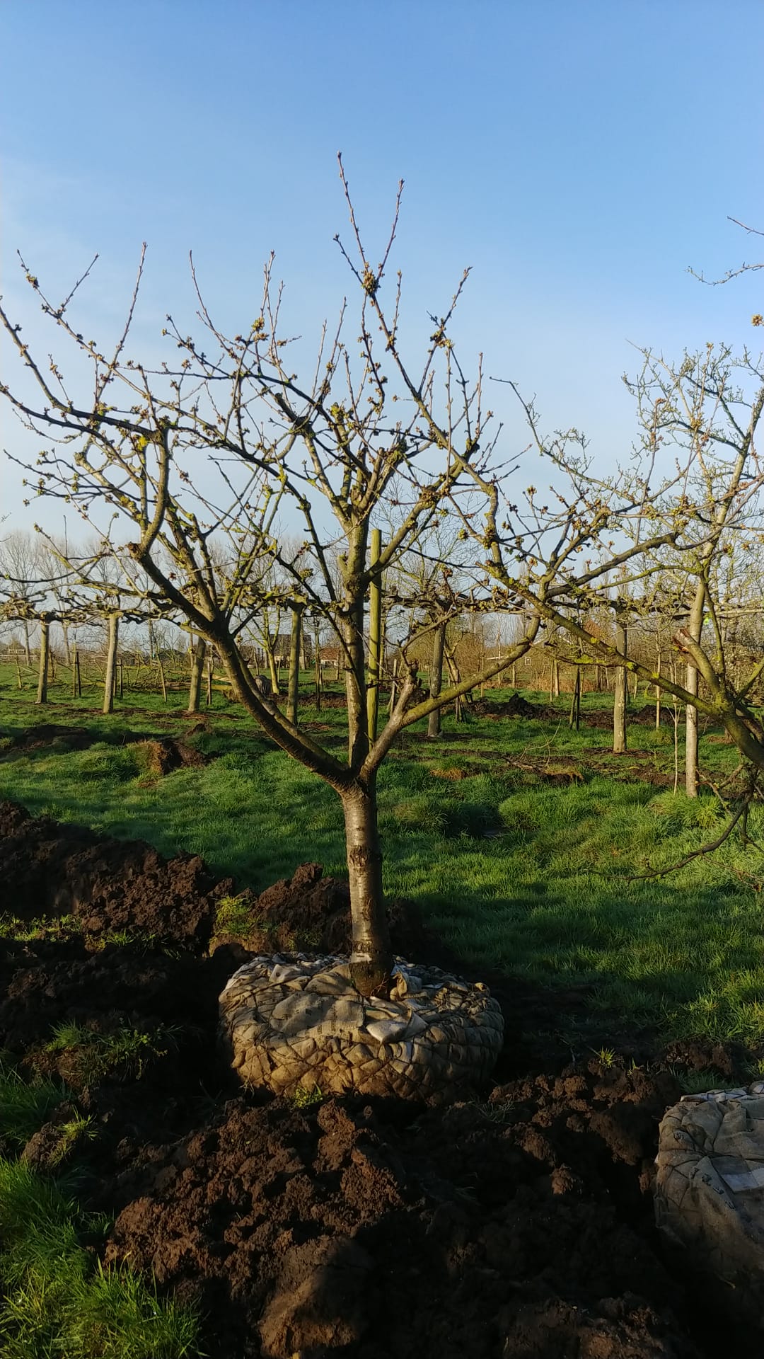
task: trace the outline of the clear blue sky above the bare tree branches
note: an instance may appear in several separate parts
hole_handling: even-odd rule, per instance
[[[145,239],[147,345],[166,311],[190,314],[189,247],[237,328],[275,249],[310,336],[347,287],[341,149],[372,258],[406,182],[412,352],[472,265],[462,357],[484,351],[546,427],[587,431],[602,466],[635,434],[632,344],[674,357],[761,334],[764,273],[704,288],[687,272],[764,258],[727,222],[764,227],[761,0],[5,0],[0,50],[1,288],[19,318],[16,247],[61,296],[98,250],[83,306],[106,342]],[[16,480],[3,470],[23,526],[41,512],[15,508]]]

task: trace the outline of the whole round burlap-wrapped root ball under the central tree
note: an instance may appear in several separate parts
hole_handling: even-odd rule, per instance
[[[423,1099],[487,1076],[503,1038],[487,987],[397,959],[389,999],[366,1000],[348,959],[257,957],[220,996],[223,1040],[242,1082]]]

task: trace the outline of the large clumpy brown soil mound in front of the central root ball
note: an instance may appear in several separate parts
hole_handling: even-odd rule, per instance
[[[681,1291],[609,1190],[666,1093],[571,1068],[404,1127],[383,1102],[232,1099],[145,1167],[106,1260],[196,1296],[216,1352],[691,1359]]]

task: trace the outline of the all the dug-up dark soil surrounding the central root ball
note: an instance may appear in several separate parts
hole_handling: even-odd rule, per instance
[[[678,1097],[665,1067],[560,1053],[541,1074],[518,1018],[551,1027],[556,1002],[496,978],[493,1089],[446,1109],[243,1094],[216,1044],[218,995],[247,957],[215,935],[234,885],[10,803],[0,832],[4,909],[65,909],[90,935],[0,940],[0,1046],[72,1090],[24,1155],[45,1170],[64,1114],[92,1118],[72,1157],[88,1205],[116,1215],[105,1260],[197,1299],[209,1356],[697,1359],[745,1341],[667,1271],[653,1230],[657,1128]],[[280,931],[345,946],[347,889],[318,866],[245,905],[271,947]],[[398,913],[404,951],[443,961]],[[132,942],[107,938],[117,920]],[[72,1021],[87,1041],[50,1046]],[[140,1060],[98,1070],[98,1041],[125,1031],[151,1040]],[[737,1059],[672,1053],[733,1079]]]

